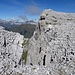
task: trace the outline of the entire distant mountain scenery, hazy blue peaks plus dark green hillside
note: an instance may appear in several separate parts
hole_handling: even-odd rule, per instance
[[[18,32],[24,35],[25,38],[30,38],[35,30],[35,21],[14,22],[0,19],[0,26],[3,26],[8,31]]]

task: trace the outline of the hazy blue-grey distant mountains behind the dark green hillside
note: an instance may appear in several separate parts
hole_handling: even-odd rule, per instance
[[[33,20],[26,21],[26,22],[15,22],[15,21],[6,21],[6,20],[0,19],[0,26],[5,27],[5,29],[14,28],[17,25],[22,25],[22,24],[33,24],[33,25],[36,25],[36,22],[33,21]]]

